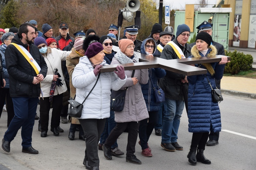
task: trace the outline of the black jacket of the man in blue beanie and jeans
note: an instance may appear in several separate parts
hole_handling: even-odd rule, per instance
[[[186,58],[190,56],[191,48],[188,44],[185,44],[184,47],[181,46],[178,43],[177,38],[174,39],[173,42],[181,48]],[[173,48],[168,44],[165,45],[165,47],[163,48],[160,58],[166,60],[179,59],[177,54],[174,52]],[[165,92],[166,98],[173,100],[184,100],[183,91],[185,91],[185,89],[187,89],[188,86],[187,83],[181,82],[181,79],[184,78],[185,75],[183,74],[174,73],[172,71],[166,70],[166,76],[160,79],[159,81],[159,86]]]

